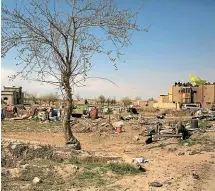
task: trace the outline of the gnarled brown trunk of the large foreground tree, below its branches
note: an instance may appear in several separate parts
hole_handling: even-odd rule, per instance
[[[72,147],[73,149],[80,150],[81,145],[80,142],[74,137],[72,133],[72,126],[74,123],[70,123],[71,115],[72,115],[72,107],[73,107],[73,101],[72,101],[72,93],[71,88],[65,88],[66,90],[66,97],[67,97],[67,106],[64,110],[64,117],[63,117],[63,128],[64,128],[64,136],[66,140],[66,144]]]

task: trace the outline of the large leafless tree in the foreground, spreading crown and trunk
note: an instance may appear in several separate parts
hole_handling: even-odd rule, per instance
[[[104,54],[116,67],[133,31],[148,32],[136,24],[140,9],[120,9],[113,0],[24,1],[14,0],[13,9],[2,5],[2,57],[16,48],[23,67],[12,79],[20,75],[59,88],[67,102],[65,138],[77,143],[70,126],[72,90],[92,78],[87,72],[94,54]]]

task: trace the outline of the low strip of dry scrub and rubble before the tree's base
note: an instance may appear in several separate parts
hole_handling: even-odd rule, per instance
[[[96,155],[84,150],[74,150],[70,147],[54,147],[50,145],[35,145],[23,142],[1,142],[1,164],[4,168],[15,168],[20,164],[34,159],[49,159],[53,161],[70,160],[73,162],[107,162],[119,160],[118,156]]]

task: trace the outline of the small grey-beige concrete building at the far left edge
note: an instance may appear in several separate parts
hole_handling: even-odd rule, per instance
[[[1,99],[7,105],[23,105],[24,93],[22,87],[4,87],[1,91]]]

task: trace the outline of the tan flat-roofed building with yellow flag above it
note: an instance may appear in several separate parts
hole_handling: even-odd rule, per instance
[[[174,85],[168,89],[168,95],[161,95],[156,108],[179,109],[182,104],[200,104],[203,108],[215,105],[215,84],[192,86]]]

